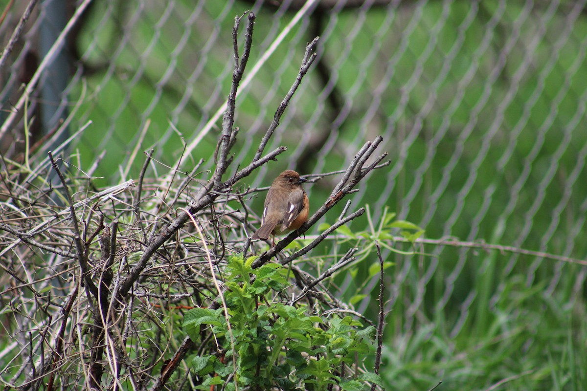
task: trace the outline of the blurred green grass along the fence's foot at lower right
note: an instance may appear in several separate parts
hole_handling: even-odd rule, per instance
[[[573,268],[565,268],[569,280]],[[494,284],[481,268],[474,277],[476,286]],[[584,389],[585,300],[573,300],[562,289],[549,293],[546,283],[527,286],[525,280],[522,273],[500,280],[503,290],[493,305],[478,292],[464,310],[453,297],[446,307],[411,318],[409,307],[401,305],[409,294],[400,293],[386,318],[386,389],[428,390],[440,382],[437,390]],[[430,300],[424,307],[440,298]]]

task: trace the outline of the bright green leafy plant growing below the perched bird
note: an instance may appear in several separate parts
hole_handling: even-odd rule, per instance
[[[338,385],[363,390],[367,383],[380,385],[375,373],[359,370],[362,358],[372,352],[376,329],[363,328],[349,316],[312,315],[307,305],[287,304],[281,298],[286,269],[275,263],[253,269],[255,259],[228,257],[227,308],[194,308],[185,314],[183,327],[194,342],[210,341],[206,334],[211,333],[217,344],[191,359],[202,379],[197,388],[326,390]]]

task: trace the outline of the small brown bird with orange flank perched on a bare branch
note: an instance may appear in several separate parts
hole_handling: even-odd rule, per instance
[[[251,239],[267,240],[269,234],[294,231],[308,220],[310,202],[302,188],[307,181],[294,170],[285,170],[275,178],[265,197],[261,228]]]

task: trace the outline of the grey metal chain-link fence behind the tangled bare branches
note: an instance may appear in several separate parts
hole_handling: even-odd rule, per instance
[[[97,187],[137,178],[140,152],[150,148],[154,171],[185,171],[201,158],[201,169],[212,169],[234,17],[251,9],[254,44],[235,118],[234,162],[246,164],[306,43],[320,36],[316,62],[268,145],[288,151],[248,185],[268,185],[286,168],[345,169],[360,145],[382,135],[391,164],[352,205],[369,205],[375,229],[389,210],[426,230],[429,244],[419,248],[427,255],[384,251],[396,262],[386,276],[386,340],[407,361],[406,335],[441,328],[457,339],[490,327],[521,302],[518,288],[532,291],[527,300],[555,297],[564,311],[585,305],[587,268],[577,261],[587,259],[586,3],[4,1],[3,47],[27,6],[32,13],[3,53],[2,154],[22,164],[26,148],[72,138],[68,170],[90,173]],[[320,203],[332,183],[309,186],[308,195]],[[260,212],[262,200],[251,205]],[[367,219],[352,228],[369,230]],[[362,286],[356,278],[340,281],[342,294]],[[363,291],[376,284],[375,276]],[[361,313],[376,307],[370,295],[356,303]],[[414,384],[394,383],[400,372],[389,370],[390,384]]]

